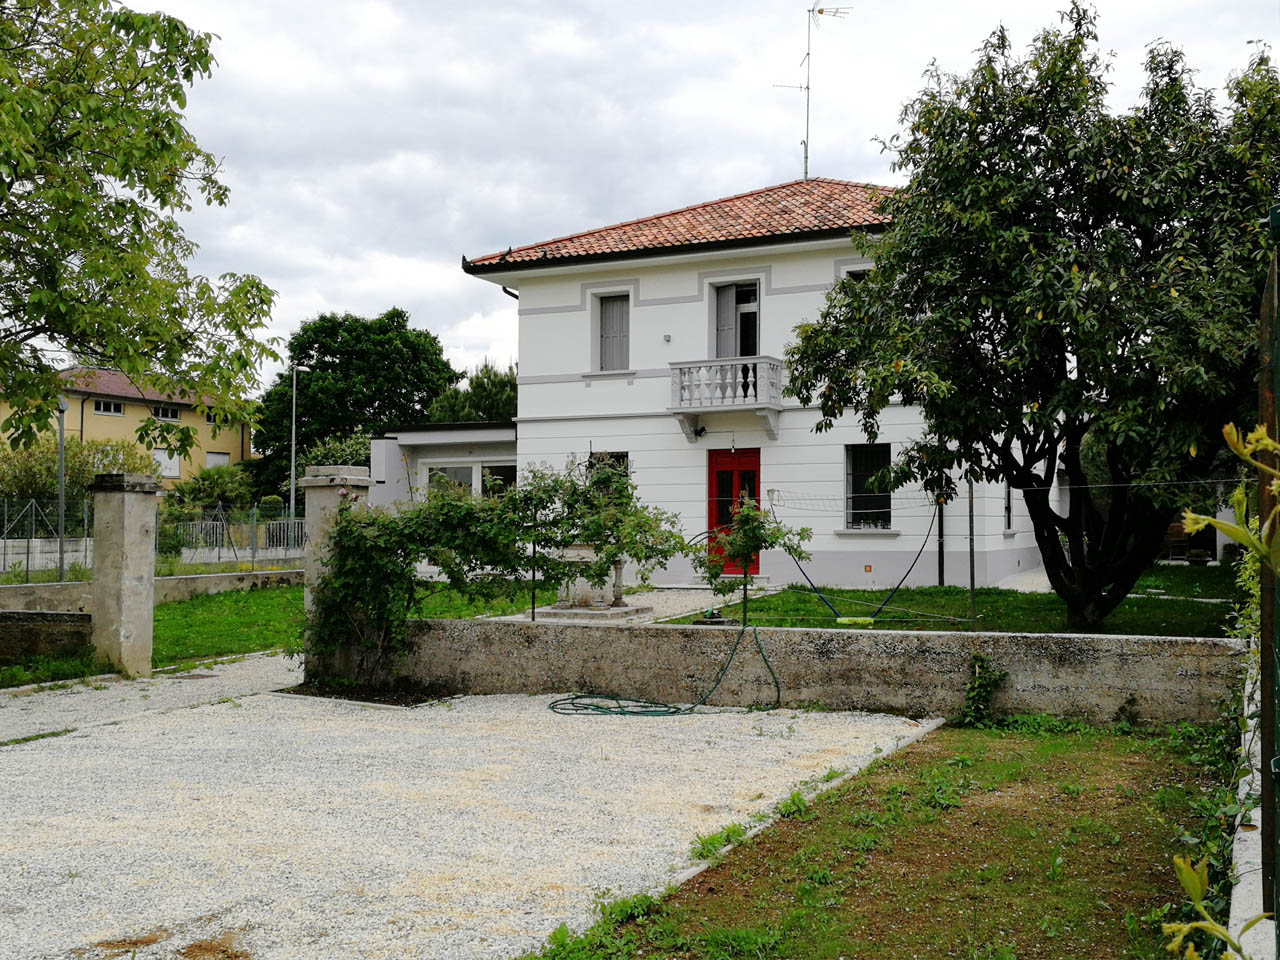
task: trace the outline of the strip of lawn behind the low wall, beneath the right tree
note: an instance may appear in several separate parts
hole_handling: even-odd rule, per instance
[[[1199,568],[1204,570],[1204,568]],[[888,595],[887,589],[846,590],[822,588],[841,616],[870,616]],[[969,590],[960,586],[919,586],[899,590],[874,625],[841,625],[818,596],[792,584],[786,590],[751,600],[751,623],[812,630],[966,630]],[[983,588],[977,591],[978,628],[1014,634],[1066,634],[1066,604],[1056,594],[1024,594]],[[740,605],[726,604],[724,616],[739,616]],[[1192,599],[1129,596],[1098,627],[1088,632],[1140,636],[1226,636],[1226,603],[1197,603]],[[699,614],[701,616],[701,614]],[[690,623],[680,617],[668,623]]]

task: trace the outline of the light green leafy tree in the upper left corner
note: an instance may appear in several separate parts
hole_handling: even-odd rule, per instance
[[[220,422],[252,419],[273,293],[188,273],[196,247],[175,219],[228,198],[182,115],[210,40],[109,0],[0,0],[0,433],[14,447],[50,429],[68,357]],[[195,443],[154,420],[140,439]]]

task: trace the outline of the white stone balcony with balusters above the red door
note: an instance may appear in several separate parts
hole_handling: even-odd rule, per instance
[[[698,439],[708,413],[755,413],[771,440],[778,439],[782,361],[777,357],[691,360],[671,365],[671,406],[685,439]]]

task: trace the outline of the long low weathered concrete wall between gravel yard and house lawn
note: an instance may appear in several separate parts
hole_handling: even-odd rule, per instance
[[[714,681],[737,631],[502,621],[412,621],[406,676],[442,694],[594,692],[692,703]],[[782,703],[957,716],[973,654],[1009,673],[997,713],[1208,721],[1243,669],[1229,640],[1151,636],[943,634],[762,628]],[[746,707],[773,685],[748,632],[710,699]]]

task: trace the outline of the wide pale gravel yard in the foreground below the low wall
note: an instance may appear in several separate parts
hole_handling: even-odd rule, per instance
[[[143,705],[211,682],[154,681]],[[0,957],[508,957],[605,891],[662,888],[695,833],[932,726],[550,699],[262,694],[3,748]]]

